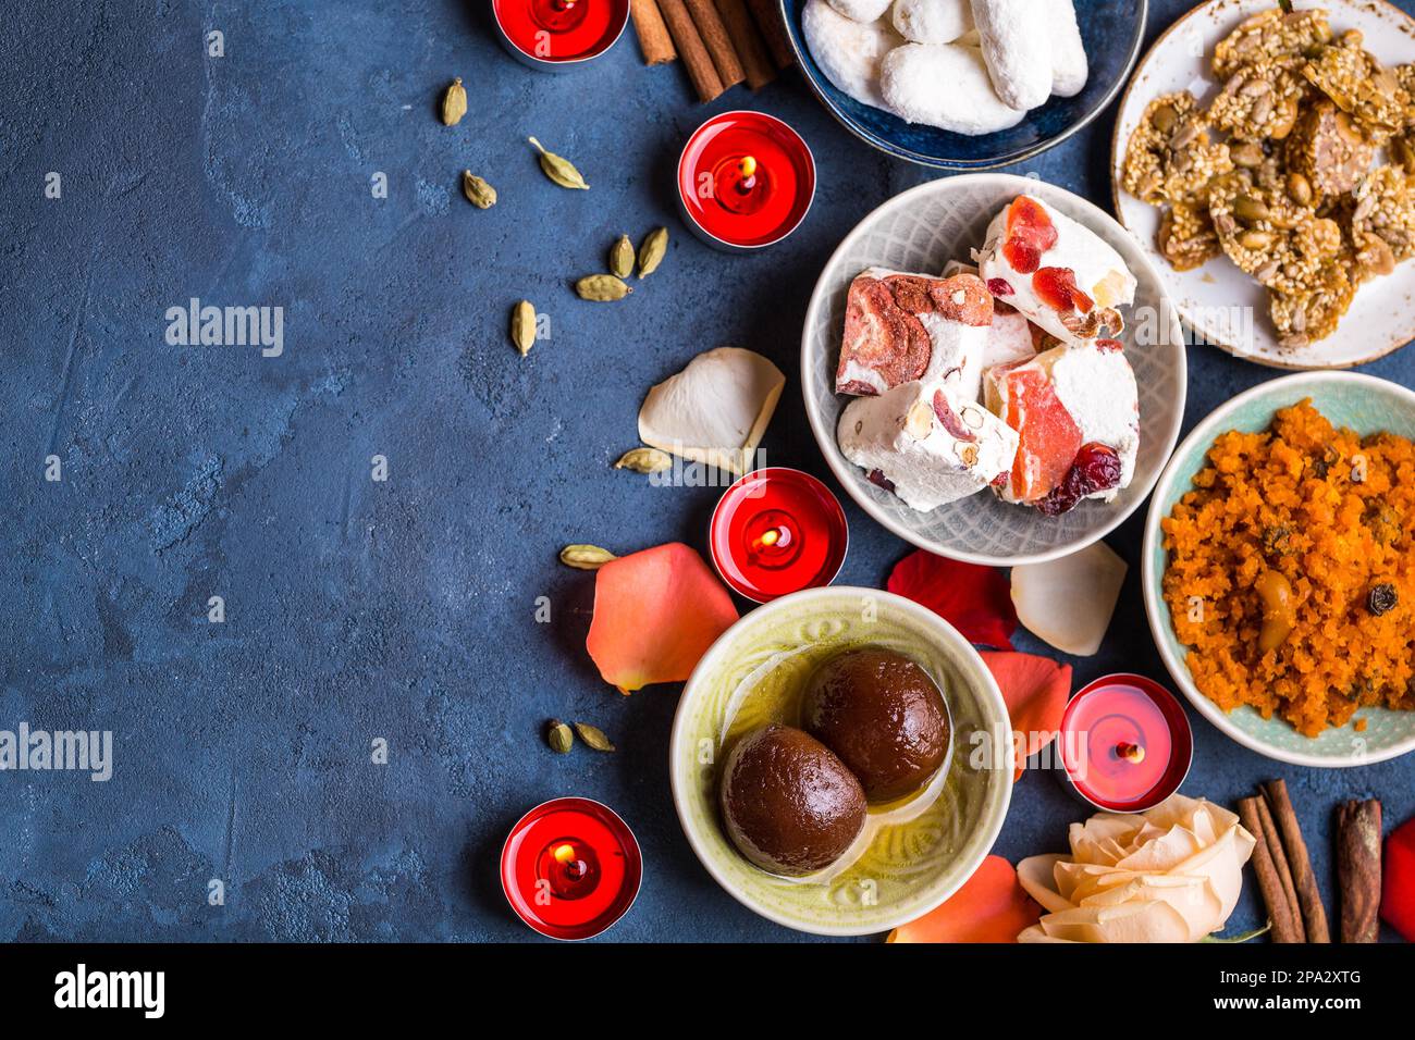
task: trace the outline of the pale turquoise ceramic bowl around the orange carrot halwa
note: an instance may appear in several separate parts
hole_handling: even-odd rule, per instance
[[[1174,637],[1169,606],[1162,593],[1167,566],[1160,519],[1191,488],[1194,474],[1204,467],[1204,457],[1214,439],[1228,430],[1254,433],[1265,430],[1283,408],[1312,398],[1313,406],[1333,426],[1348,426],[1360,434],[1388,430],[1415,439],[1415,392],[1385,379],[1354,372],[1303,372],[1255,386],[1240,393],[1204,419],[1174,451],[1155,487],[1149,516],[1145,521],[1143,584],[1145,613],[1165,666],[1189,700],[1208,722],[1230,737],[1259,754],[1296,765],[1367,765],[1415,750],[1415,712],[1361,709],[1346,726],[1329,729],[1319,737],[1305,737],[1282,719],[1264,719],[1252,707],[1224,712],[1199,692],[1183,644]],[[1356,720],[1365,719],[1357,733]]]

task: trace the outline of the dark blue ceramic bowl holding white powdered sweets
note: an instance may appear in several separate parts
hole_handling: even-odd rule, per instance
[[[1145,40],[1148,0],[1078,0],[1081,37],[1091,62],[1091,76],[1075,98],[1051,98],[1010,130],[968,137],[931,126],[906,123],[883,109],[838,91],[815,64],[801,33],[805,0],[781,0],[787,31],[807,82],[856,137],[880,151],[938,170],[993,170],[1040,154],[1060,144],[1095,119],[1109,105],[1135,68]]]

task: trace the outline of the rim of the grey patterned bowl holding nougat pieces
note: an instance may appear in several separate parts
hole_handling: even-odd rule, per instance
[[[1067,542],[1065,545],[1060,545],[1053,549],[1044,549],[1041,552],[1034,552],[1034,553],[995,556],[992,553],[982,553],[964,549],[944,550],[935,542],[931,542],[930,539],[908,529],[903,524],[896,522],[869,495],[860,494],[862,488],[859,488],[856,484],[856,474],[855,474],[856,467],[853,467],[845,458],[839,444],[836,444],[835,429],[833,427],[825,429],[824,417],[819,415],[819,410],[812,405],[809,381],[807,378],[807,372],[809,371],[808,365],[811,364],[809,361],[811,330],[819,320],[821,317],[819,311],[826,306],[826,299],[828,299],[828,293],[825,291],[825,275],[828,270],[831,270],[831,267],[836,265],[836,262],[846,252],[846,249],[849,249],[856,242],[856,239],[859,239],[867,231],[869,225],[872,225],[876,221],[876,218],[879,218],[884,211],[891,209],[893,207],[903,205],[906,200],[910,200],[914,195],[921,195],[932,191],[948,192],[954,191],[955,188],[966,188],[968,185],[979,183],[1010,183],[1013,187],[1017,188],[1019,194],[1036,191],[1037,185],[1040,184],[1041,187],[1050,191],[1056,191],[1065,195],[1070,202],[1077,204],[1080,209],[1087,215],[1087,219],[1108,221],[1111,225],[1114,225],[1119,238],[1125,239],[1131,238],[1129,232],[1126,232],[1115,221],[1114,216],[1111,216],[1108,212],[1101,209],[1094,202],[1077,195],[1073,191],[1068,191],[1067,188],[1050,184],[1047,181],[1040,181],[1033,177],[1022,177],[1017,174],[1000,174],[1000,173],[959,174],[957,177],[945,177],[935,181],[925,181],[924,184],[918,184],[913,188],[908,188],[907,191],[901,191],[900,194],[886,200],[874,209],[872,209],[869,214],[866,214],[860,219],[860,222],[856,224],[849,231],[849,233],[846,233],[843,239],[841,239],[841,245],[835,248],[829,259],[825,262],[825,266],[821,267],[821,275],[816,276],[815,289],[811,290],[811,301],[807,304],[805,320],[802,321],[801,325],[801,362],[799,362],[801,396],[805,400],[805,413],[807,419],[811,423],[811,433],[815,434],[816,447],[821,450],[821,454],[825,456],[825,463],[826,466],[831,467],[831,473],[835,475],[835,480],[841,484],[842,488],[845,488],[845,492],[850,497],[850,499],[857,507],[860,507],[870,516],[870,519],[883,526],[886,531],[899,538],[903,538],[906,542],[918,549],[924,549],[925,552],[931,552],[938,556],[944,556],[947,559],[962,560],[965,563],[981,563],[983,566],[992,566],[992,567],[1015,567],[1027,563],[1047,563],[1050,560],[1061,559],[1063,556],[1070,556],[1074,552],[1080,552],[1081,549],[1085,549],[1099,542],[1107,535],[1119,528],[1125,521],[1133,516],[1139,511],[1139,508],[1145,504],[1145,498],[1157,485],[1160,477],[1163,475],[1165,468],[1169,466],[1169,460],[1174,454],[1174,444],[1179,443],[1179,434],[1184,424],[1184,402],[1189,399],[1189,358],[1187,358],[1189,347],[1184,342],[1183,328],[1179,324],[1179,311],[1174,308],[1173,301],[1169,299],[1169,286],[1160,277],[1159,270],[1155,267],[1153,260],[1150,260],[1143,253],[1136,253],[1142,265],[1140,272],[1150,280],[1152,284],[1156,286],[1157,290],[1156,294],[1159,296],[1159,310],[1163,311],[1165,316],[1167,317],[1166,324],[1169,325],[1169,334],[1174,340],[1174,344],[1179,347],[1182,354],[1180,364],[1174,366],[1176,408],[1174,408],[1174,419],[1170,423],[1170,429],[1167,430],[1165,437],[1165,450],[1160,456],[1163,461],[1155,467],[1153,473],[1149,477],[1148,485],[1140,484],[1139,491],[1135,494],[1135,498],[1131,502],[1129,508],[1124,509],[1112,508],[1111,515],[1107,518],[1104,524],[1101,524],[1094,531],[1087,532],[1075,542]],[[1135,484],[1132,484],[1132,487],[1135,487]]]

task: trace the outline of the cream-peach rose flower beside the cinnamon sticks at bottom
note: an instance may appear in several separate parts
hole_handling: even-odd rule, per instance
[[[1073,824],[1070,840],[1070,857],[1017,865],[1047,911],[1019,942],[1197,942],[1228,921],[1254,846],[1232,812],[1177,794]]]

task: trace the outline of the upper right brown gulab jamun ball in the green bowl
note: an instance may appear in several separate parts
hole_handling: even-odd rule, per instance
[[[801,723],[859,777],[872,802],[913,794],[948,754],[944,695],[917,662],[890,649],[850,649],[816,668]]]

